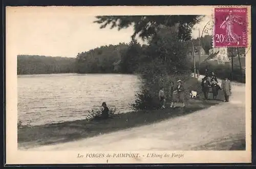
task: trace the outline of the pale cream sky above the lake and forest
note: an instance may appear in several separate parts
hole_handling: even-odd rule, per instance
[[[95,16],[63,12],[12,12],[7,14],[7,38],[18,55],[76,57],[101,45],[131,41],[133,27],[118,31],[100,29]],[[207,21],[206,16],[195,25],[193,38],[199,36]],[[8,31],[10,32],[8,34]],[[139,39],[139,42],[142,41]],[[8,43],[7,43],[8,44]]]

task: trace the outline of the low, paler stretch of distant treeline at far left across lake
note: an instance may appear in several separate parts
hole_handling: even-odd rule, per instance
[[[75,73],[75,59],[38,55],[18,55],[17,74]]]

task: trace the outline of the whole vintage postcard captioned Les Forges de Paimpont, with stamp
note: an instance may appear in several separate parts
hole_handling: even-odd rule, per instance
[[[250,17],[6,7],[7,164],[251,162]]]

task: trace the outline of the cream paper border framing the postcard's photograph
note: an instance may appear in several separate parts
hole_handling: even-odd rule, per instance
[[[217,7],[217,6],[216,6]],[[251,44],[250,6],[248,45]],[[17,149],[17,53],[8,29],[12,13],[47,10],[86,15],[212,15],[214,6],[113,6],[113,7],[7,7],[6,8],[6,162],[7,164],[84,164],[107,163],[106,158],[77,158],[78,153],[182,153],[184,158],[109,158],[108,163],[248,163],[251,162],[251,49],[246,54],[246,150],[245,151],[140,151],[140,152],[32,152]],[[86,11],[86,12],[85,12]],[[35,16],[36,19],[36,16]],[[16,28],[18,29],[18,28]]]

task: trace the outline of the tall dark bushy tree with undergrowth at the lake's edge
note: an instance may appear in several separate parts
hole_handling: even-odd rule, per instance
[[[178,35],[170,28],[163,28],[151,39],[137,73],[141,77],[141,92],[136,95],[132,106],[135,109],[157,109],[159,107],[158,92],[164,87],[169,95],[170,81],[190,79],[190,67],[184,44],[178,40]],[[198,86],[193,82],[192,86]],[[189,82],[188,85],[191,85]],[[190,86],[184,86],[190,92]],[[185,94],[188,96],[188,94]]]

